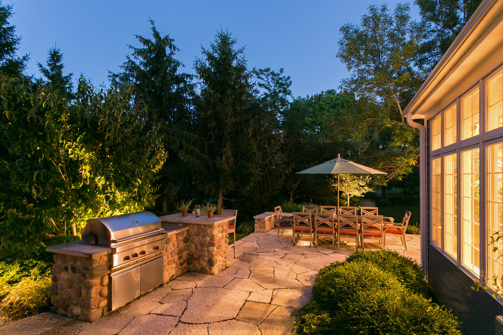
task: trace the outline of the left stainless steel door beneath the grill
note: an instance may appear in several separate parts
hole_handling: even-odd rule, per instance
[[[112,311],[140,296],[140,265],[110,276],[112,282]]]

